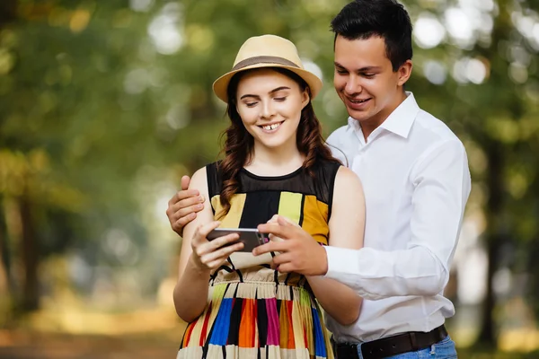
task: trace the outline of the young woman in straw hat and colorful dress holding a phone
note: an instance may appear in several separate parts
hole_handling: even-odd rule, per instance
[[[256,228],[278,214],[320,245],[363,245],[361,184],[331,157],[314,115],[321,87],[294,44],[273,35],[248,39],[214,83],[231,125],[224,160],[190,181],[205,206],[183,231],[174,304],[190,324],[179,358],[332,358],[319,303],[343,325],[358,319],[361,298],[349,287],[280,273],[272,254],[238,251],[236,234],[206,238],[218,226]]]

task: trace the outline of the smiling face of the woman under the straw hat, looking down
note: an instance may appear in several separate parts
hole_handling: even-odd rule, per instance
[[[272,69],[252,70],[240,79],[236,101],[255,143],[269,148],[296,144],[301,110],[309,103],[296,81]]]

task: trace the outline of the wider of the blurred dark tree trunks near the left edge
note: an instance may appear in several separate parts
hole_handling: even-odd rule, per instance
[[[22,222],[21,257],[24,271],[21,310],[35,311],[40,307],[39,244],[31,218],[31,203],[28,197],[22,197],[19,205]]]

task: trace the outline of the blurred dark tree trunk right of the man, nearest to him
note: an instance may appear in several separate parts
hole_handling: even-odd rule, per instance
[[[482,326],[478,344],[496,347],[496,323],[492,313],[496,305],[492,288],[492,277],[498,269],[499,249],[503,244],[502,206],[503,206],[503,148],[499,143],[490,143],[486,148],[488,172],[487,184],[489,199],[486,206],[486,246],[488,253],[487,296],[482,308]]]

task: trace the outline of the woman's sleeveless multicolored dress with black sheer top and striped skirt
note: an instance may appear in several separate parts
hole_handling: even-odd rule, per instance
[[[286,176],[240,173],[240,190],[219,218],[223,228],[255,228],[285,215],[328,244],[333,184],[340,164],[319,162],[312,177],[300,168]],[[218,162],[206,167],[217,217],[222,182]],[[208,305],[183,335],[178,358],[332,358],[323,313],[305,276],[271,269],[273,253],[235,252],[209,282]]]

